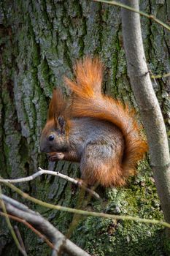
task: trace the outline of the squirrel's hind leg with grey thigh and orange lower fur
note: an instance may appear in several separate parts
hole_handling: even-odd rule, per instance
[[[125,184],[119,154],[122,154],[121,151],[115,154],[115,148],[107,143],[88,143],[80,161],[82,179],[85,183],[98,183],[104,187]]]

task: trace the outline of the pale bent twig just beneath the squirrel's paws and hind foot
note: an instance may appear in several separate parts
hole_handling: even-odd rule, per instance
[[[19,183],[19,182],[26,182],[26,181],[32,181],[34,180],[34,178],[41,176],[42,174],[49,174],[49,175],[53,175],[53,176],[58,176],[60,178],[65,179],[66,181],[70,181],[73,184],[76,184],[78,187],[82,187],[83,189],[85,189],[85,191],[87,191],[88,193],[90,193],[91,195],[93,195],[93,197],[95,197],[96,199],[100,199],[100,196],[93,191],[92,189],[89,189],[88,187],[86,187],[84,184],[82,184],[80,181],[77,181],[74,178],[71,178],[69,176],[66,176],[62,173],[58,173],[58,172],[54,172],[52,170],[44,170],[41,167],[39,167],[39,171],[37,173],[34,173],[31,176],[28,176],[26,178],[14,178],[14,179],[0,179],[0,182],[7,182],[7,183]]]

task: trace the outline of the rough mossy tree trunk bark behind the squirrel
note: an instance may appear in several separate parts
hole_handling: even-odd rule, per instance
[[[76,59],[87,54],[99,55],[106,67],[104,91],[134,107],[136,102],[126,70],[119,8],[83,0],[2,0],[0,7],[0,175],[18,178],[31,175],[38,166],[47,168],[47,159],[39,152],[47,105],[54,86],[61,86],[69,94],[63,87],[63,75],[72,77]],[[140,7],[161,20],[170,20],[169,1],[141,1]],[[169,72],[169,32],[142,18],[142,36],[152,72]],[[169,81],[163,78],[153,82],[167,128]],[[79,176],[77,165],[69,162],[58,162],[55,170]],[[92,200],[88,209],[161,219],[146,162],[140,165],[139,173],[125,189],[107,189],[101,193],[107,200],[103,203]],[[77,206],[79,191],[59,178],[44,177],[18,186],[47,202]],[[3,190],[7,191],[5,187]],[[18,195],[12,197],[20,200]],[[72,214],[28,205],[67,234]],[[48,255],[49,249],[42,241],[23,226],[19,228],[28,255]],[[89,217],[83,219],[70,239],[91,255],[158,255],[163,253],[160,232],[160,227]],[[0,255],[18,255],[4,219],[0,222],[0,236]]]

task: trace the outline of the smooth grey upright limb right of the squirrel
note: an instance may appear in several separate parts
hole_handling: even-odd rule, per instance
[[[139,10],[139,1],[123,0]],[[152,88],[144,56],[139,14],[122,9],[123,41],[128,75],[144,122],[150,159],[166,222],[170,222],[170,158],[163,116]]]

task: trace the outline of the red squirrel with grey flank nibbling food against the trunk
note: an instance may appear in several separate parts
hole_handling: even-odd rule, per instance
[[[135,110],[101,93],[101,61],[85,57],[74,67],[75,80],[65,78],[73,92],[63,99],[54,89],[40,150],[50,161],[80,162],[85,184],[125,185],[147,152]]]

